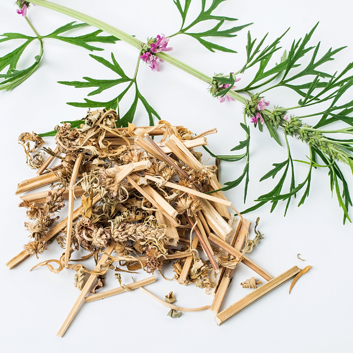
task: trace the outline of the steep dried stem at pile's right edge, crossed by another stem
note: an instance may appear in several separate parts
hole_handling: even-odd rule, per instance
[[[234,239],[231,242],[231,246],[239,252],[241,252],[242,247],[243,247],[243,243],[249,234],[250,224],[251,224],[251,222],[249,222],[247,219],[243,219],[239,233],[237,234],[236,237],[234,237]],[[233,271],[234,271],[234,269],[225,268],[223,273],[221,274],[221,280],[220,280],[219,286],[216,291],[216,295],[214,296],[214,299],[213,299],[213,302],[212,302],[212,305],[210,308],[210,311],[212,311],[216,314],[218,314],[219,309],[222,305],[222,302],[223,302],[223,299],[225,296],[225,292],[228,289]]]

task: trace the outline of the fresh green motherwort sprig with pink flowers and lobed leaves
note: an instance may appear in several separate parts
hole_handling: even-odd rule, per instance
[[[196,1],[196,0],[194,0]],[[270,44],[265,44],[267,34],[258,42],[257,39],[252,39],[250,32],[248,32],[248,43],[246,46],[246,63],[239,70],[229,73],[229,75],[215,74],[213,77],[209,77],[190,66],[180,62],[174,57],[168,55],[166,52],[172,50],[169,46],[170,38],[176,35],[188,35],[196,39],[200,44],[210,51],[224,51],[229,53],[236,53],[236,51],[217,45],[204,38],[212,37],[234,37],[236,32],[240,31],[249,24],[241,25],[238,27],[231,27],[229,29],[221,29],[225,22],[236,21],[237,19],[225,16],[216,16],[213,14],[214,10],[226,0],[212,0],[207,2],[206,0],[199,0],[201,5],[200,14],[195,20],[187,25],[188,10],[191,5],[191,0],[173,0],[173,3],[178,8],[181,17],[182,25],[178,32],[172,35],[157,35],[156,37],[149,38],[147,42],[142,42],[139,39],[131,36],[105,22],[97,20],[93,17],[87,16],[69,8],[47,2],[45,0],[33,0],[31,3],[19,0],[17,4],[18,14],[25,17],[29,26],[32,28],[35,36],[30,37],[19,33],[4,33],[3,39],[0,42],[13,39],[25,39],[25,43],[19,46],[9,54],[0,57],[0,72],[8,68],[6,74],[0,75],[0,78],[4,80],[0,82],[0,89],[12,89],[18,84],[26,80],[37,68],[38,64],[43,56],[43,40],[46,38],[53,38],[75,45],[83,46],[89,50],[102,50],[101,48],[94,47],[87,44],[88,42],[106,42],[115,43],[117,40],[123,40],[132,46],[139,49],[140,53],[137,57],[137,65],[135,74],[132,78],[128,77],[120,65],[116,62],[113,53],[111,53],[111,62],[105,60],[105,58],[90,54],[90,56],[98,61],[100,64],[109,68],[118,77],[114,77],[111,80],[92,79],[84,77],[85,81],[61,81],[61,84],[74,86],[76,88],[82,87],[94,87],[95,89],[88,94],[88,96],[96,95],[106,89],[115,87],[121,83],[128,82],[128,86],[120,94],[114,95],[109,101],[94,101],[85,98],[85,102],[69,102],[68,104],[77,107],[103,107],[106,109],[117,109],[119,112],[119,102],[124,98],[125,94],[130,90],[135,90],[135,98],[131,107],[124,113],[122,117],[119,117],[116,121],[116,125],[127,126],[133,122],[136,107],[139,101],[143,104],[146,112],[149,116],[150,125],[154,125],[154,117],[160,119],[157,112],[151,107],[144,96],[138,89],[137,86],[137,73],[139,70],[140,62],[147,64],[151,70],[160,70],[159,64],[161,62],[167,62],[172,64],[179,69],[193,75],[194,77],[205,82],[211,95],[217,97],[222,103],[225,100],[237,100],[244,106],[244,115],[242,119],[244,122],[240,123],[241,128],[245,132],[245,140],[241,141],[236,147],[232,148],[231,151],[244,150],[244,153],[239,155],[215,155],[207,148],[205,148],[212,156],[227,162],[236,162],[245,160],[245,167],[242,174],[234,181],[224,183],[225,187],[220,189],[222,191],[229,190],[231,188],[239,186],[243,181],[245,185],[244,190],[244,202],[247,197],[247,190],[249,184],[249,168],[250,168],[250,125],[258,127],[260,131],[267,130],[270,136],[279,144],[281,142],[278,138],[278,133],[284,134],[287,158],[283,162],[274,163],[274,168],[267,172],[261,179],[260,182],[270,177],[274,178],[277,173],[281,173],[279,182],[274,189],[267,194],[261,195],[255,200],[257,203],[243,211],[247,213],[263,206],[270,202],[272,203],[271,212],[274,210],[279,201],[285,201],[285,212],[287,212],[290,200],[292,197],[296,197],[302,189],[304,194],[300,199],[299,206],[302,205],[305,199],[309,196],[310,184],[311,184],[311,173],[313,168],[325,167],[328,170],[329,181],[331,192],[335,191],[338,199],[339,206],[343,210],[343,223],[346,219],[350,221],[348,215],[348,207],[352,205],[348,186],[344,175],[339,167],[340,164],[348,164],[352,173],[353,157],[350,155],[350,151],[353,150],[353,139],[346,139],[341,134],[353,134],[353,118],[349,116],[353,112],[353,100],[344,100],[347,96],[346,91],[353,84],[353,76],[349,76],[350,70],[353,68],[353,63],[349,63],[344,70],[335,73],[325,73],[321,71],[321,66],[329,61],[333,60],[333,55],[342,50],[344,47],[333,49],[330,48],[326,53],[319,54],[320,42],[317,45],[309,44],[311,37],[318,24],[304,36],[298,40],[293,40],[292,45],[288,50],[282,50],[281,56],[278,57],[279,64],[272,65],[272,56],[277,55],[278,50],[282,49],[280,41],[282,37],[287,33],[283,33],[276,40]],[[58,28],[54,32],[42,36],[37,33],[33,25],[28,20],[27,9],[32,5],[38,5],[45,7],[63,14],[69,15],[77,20],[83,21],[84,23],[75,24],[75,22],[69,23],[63,27]],[[32,9],[30,10],[32,11]],[[188,16],[189,20],[189,16]],[[193,27],[200,22],[213,20],[216,23],[214,27],[204,32],[195,32]],[[89,33],[87,35],[77,37],[61,36],[62,33],[67,32],[71,29],[75,29],[81,26],[91,25],[98,28],[97,31]],[[98,36],[99,33],[105,31],[110,36]],[[40,53],[35,57],[35,62],[32,66],[25,70],[16,70],[19,58],[28,44],[34,40],[40,42]],[[309,64],[303,65],[305,58],[309,56]],[[305,57],[305,58],[304,58]],[[307,60],[308,61],[308,60]],[[258,67],[255,76],[248,73],[248,69],[252,67]],[[242,83],[245,83],[245,87],[237,88],[234,84],[240,80],[237,75],[243,74]],[[299,80],[297,80],[299,79]],[[303,80],[306,83],[298,83]],[[280,102],[275,102],[275,105],[270,109],[270,102],[266,99],[265,93],[276,87],[284,87],[292,92],[293,99],[295,95],[299,95],[299,101],[295,106],[283,107]],[[343,97],[344,95],[344,97]],[[297,98],[298,99],[298,98]],[[323,104],[325,108],[322,108]],[[315,112],[310,114],[301,113],[302,108],[313,106],[316,108]],[[119,116],[121,114],[119,113]],[[306,124],[306,118],[317,117],[317,122],[314,126]],[[327,129],[326,126],[333,123],[340,123],[344,125],[340,129]],[[82,124],[82,121],[70,122],[72,128]],[[327,130],[323,130],[323,128]],[[41,134],[40,136],[53,136],[56,131]],[[332,135],[333,134],[333,135]],[[308,146],[308,160],[293,160],[290,153],[290,147],[288,143],[288,137],[294,137],[296,140],[304,142]],[[320,162],[321,161],[321,162]],[[295,180],[295,168],[293,162],[301,162],[308,165],[308,174],[304,181],[299,184]],[[290,186],[289,190],[282,192],[284,182],[289,172]]]

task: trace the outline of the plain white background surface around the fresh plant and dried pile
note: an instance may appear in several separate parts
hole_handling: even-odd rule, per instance
[[[159,33],[177,32],[181,19],[177,8],[168,0],[56,0],[56,3],[72,7],[145,40]],[[198,14],[199,2],[193,1],[188,21]],[[236,25],[254,22],[249,27],[253,38],[269,32],[269,40],[277,38],[291,27],[282,40],[283,48],[289,48],[293,39],[305,35],[317,21],[320,25],[313,35],[315,45],[321,40],[321,54],[331,46],[348,45],[336,55],[336,60],[326,63],[326,72],[342,70],[352,58],[351,1],[258,1],[240,2],[229,0],[215,11],[217,15],[237,17]],[[40,34],[47,34],[73,19],[53,11],[36,7],[28,12],[29,18]],[[232,26],[233,23],[227,24]],[[199,29],[209,29],[214,24],[202,24]],[[93,28],[83,28],[75,33],[89,33]],[[170,53],[205,74],[236,72],[245,60],[246,33],[239,32],[235,38],[214,39],[220,45],[236,49],[238,54],[212,53],[191,37],[181,35],[170,40],[174,50]],[[25,20],[16,14],[13,1],[2,0],[0,4],[0,32],[20,32],[32,35]],[[75,34],[74,34],[75,35]],[[206,38],[207,39],[207,38]],[[20,41],[18,41],[20,43]],[[0,45],[0,56],[15,48],[12,42]],[[10,92],[1,91],[0,139],[2,151],[1,172],[1,262],[5,264],[19,253],[28,241],[24,228],[25,209],[17,207],[15,196],[17,184],[32,178],[35,171],[24,163],[25,155],[17,144],[17,137],[25,131],[37,133],[53,130],[63,120],[76,120],[85,115],[85,108],[67,105],[69,101],[83,101],[90,89],[75,89],[57,84],[56,81],[81,80],[83,76],[114,79],[112,72],[88,56],[89,51],[53,39],[45,40],[45,52],[39,69],[23,84]],[[98,44],[106,50],[94,54],[109,59],[113,51],[116,60],[130,76],[134,73],[138,52],[127,43]],[[38,44],[31,44],[18,68],[32,63],[38,53]],[[281,49],[274,61],[279,61]],[[184,125],[195,133],[216,127],[217,135],[208,137],[209,148],[216,154],[228,154],[240,140],[244,140],[242,105],[238,102],[220,104],[207,92],[207,85],[179,69],[164,63],[160,73],[151,72],[141,65],[138,83],[141,93],[156,109],[162,119],[175,125]],[[251,72],[243,75],[239,87],[250,82]],[[243,86],[244,87],[244,86]],[[93,100],[104,101],[120,93],[114,87]],[[347,100],[351,99],[347,94]],[[291,91],[270,91],[267,99],[274,105],[297,105],[298,96]],[[132,101],[127,95],[121,103],[126,111]],[[314,120],[309,121],[314,124]],[[139,105],[136,124],[147,125],[148,117]],[[284,161],[285,147],[280,147],[268,132],[260,133],[251,128],[250,184],[246,205],[243,204],[243,184],[226,196],[239,209],[252,205],[259,195],[272,190],[278,178],[259,183],[259,179],[272,168],[272,163]],[[283,134],[279,134],[284,142]],[[46,138],[53,146],[52,138]],[[289,141],[293,159],[305,159],[308,148],[296,139]],[[237,154],[237,153],[236,153]],[[205,156],[206,157],[206,156]],[[206,161],[207,158],[204,159]],[[208,163],[213,163],[211,159]],[[307,166],[295,162],[296,182],[305,179]],[[244,165],[221,164],[221,182],[234,180],[242,173]],[[342,165],[349,186],[353,187],[349,170]],[[288,190],[285,183],[283,191]],[[351,189],[353,190],[353,189]],[[298,195],[301,197],[302,193]],[[352,226],[342,225],[342,210],[335,196],[331,198],[326,168],[313,170],[310,197],[301,207],[299,198],[293,200],[286,217],[283,203],[270,213],[270,204],[247,214],[255,224],[261,217],[259,230],[265,239],[250,254],[250,258],[277,276],[293,265],[301,268],[312,265],[288,295],[289,283],[271,292],[236,317],[218,327],[209,311],[185,313],[180,319],[166,316],[168,309],[154,302],[139,290],[111,297],[81,307],[64,338],[55,334],[79,295],[74,287],[74,271],[53,274],[47,268],[29,269],[45,259],[58,259],[63,252],[57,244],[50,251],[34,256],[12,270],[1,267],[1,350],[4,352],[64,352],[122,350],[122,351],[238,351],[261,350],[262,352],[348,352],[351,333],[352,289],[351,256]],[[62,217],[66,216],[66,210]],[[251,238],[254,236],[253,225]],[[297,259],[301,253],[306,262]],[[82,255],[80,253],[80,255]],[[79,255],[77,255],[78,258]],[[93,264],[91,265],[93,267]],[[88,266],[89,267],[89,266]],[[168,266],[169,267],[169,266]],[[172,277],[171,270],[165,270]],[[234,272],[222,309],[245,296],[250,289],[239,283],[254,273],[240,264]],[[131,282],[129,274],[122,274],[125,283]],[[136,280],[146,273],[134,275]],[[260,278],[256,276],[256,279]],[[116,287],[113,273],[106,279],[106,289]],[[157,281],[146,287],[163,298],[174,291],[177,305],[199,307],[211,304],[213,297],[206,296],[203,289],[184,287],[176,281],[167,282],[157,275]]]

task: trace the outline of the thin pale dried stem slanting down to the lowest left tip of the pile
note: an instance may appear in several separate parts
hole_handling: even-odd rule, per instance
[[[108,255],[110,255],[113,250],[115,248],[115,244],[114,242],[112,242],[107,248],[106,248],[106,253]],[[99,259],[97,266],[95,267],[94,271],[99,271],[100,270],[100,265],[104,264],[104,262],[106,262],[108,260],[108,255],[103,254],[102,257]],[[69,315],[67,316],[67,318],[65,319],[62,327],[60,328],[60,330],[58,330],[57,332],[57,336],[59,337],[63,337],[66,330],[68,329],[69,325],[71,324],[72,319],[74,318],[76,312],[78,311],[78,309],[80,308],[81,304],[84,302],[85,297],[87,296],[89,290],[91,289],[95,279],[97,278],[97,275],[95,274],[91,274],[86,282],[86,284],[84,285],[84,287],[81,290],[81,293],[79,295],[79,297],[77,298],[74,306],[72,307],[72,309],[70,310]]]

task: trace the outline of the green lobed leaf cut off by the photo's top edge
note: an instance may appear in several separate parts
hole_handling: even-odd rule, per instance
[[[238,27],[232,27],[229,29],[223,29],[220,30],[220,27],[225,21],[237,21],[238,19],[232,18],[232,17],[225,17],[225,16],[214,16],[212,15],[212,12],[218,7],[220,3],[222,3],[225,0],[212,0],[212,4],[210,7],[206,10],[206,0],[201,1],[201,12],[198,15],[198,17],[187,27],[184,27],[186,16],[191,4],[191,0],[186,0],[184,8],[182,7],[180,0],[173,0],[175,6],[177,6],[181,16],[182,16],[182,26],[181,29],[178,33],[175,33],[174,35],[177,34],[186,34],[188,36],[191,36],[199,41],[205,48],[208,50],[214,52],[214,49],[219,50],[219,51],[224,51],[224,52],[231,52],[231,53],[236,53],[237,51],[226,48],[224,46],[209,42],[203,38],[205,37],[236,37],[237,34],[233,34],[235,32],[238,32],[242,30],[244,27],[247,27],[251,25],[252,23],[248,23],[243,26],[238,26]],[[198,33],[191,33],[187,32],[189,29],[194,27],[196,24],[207,21],[207,20],[216,20],[218,23],[211,29],[204,31],[204,32],[198,32]]]

